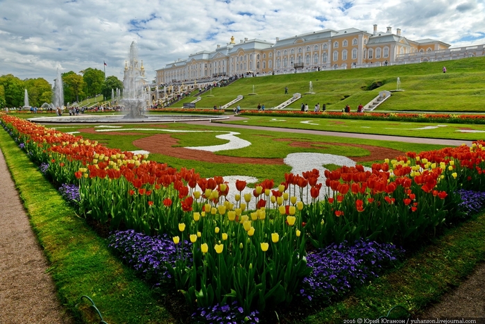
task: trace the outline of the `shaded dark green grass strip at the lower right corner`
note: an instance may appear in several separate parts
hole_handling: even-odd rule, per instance
[[[416,316],[485,260],[485,214],[445,231],[431,245],[406,259],[399,268],[382,275],[352,296],[336,302],[305,323],[342,323],[342,318],[378,318],[395,305]],[[391,315],[407,315],[406,312]]]

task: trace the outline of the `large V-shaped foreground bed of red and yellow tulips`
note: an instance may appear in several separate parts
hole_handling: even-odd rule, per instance
[[[317,170],[285,174],[280,185],[264,180],[252,194],[241,194],[244,181],[229,188],[222,177],[201,178],[194,170],[178,171],[148,161],[146,155],[105,148],[22,119],[2,117],[2,123],[33,161],[48,164],[42,169],[56,185],[78,185],[81,215],[112,230],[133,229],[130,235],[164,237],[165,245],[155,241],[142,244],[141,252],[130,250],[128,263],[141,258],[139,269],[146,269],[149,277],[171,277],[190,307],[224,307],[237,301],[244,316],[254,309],[289,305],[300,294],[328,298],[325,289],[314,289],[314,295],[301,291],[305,278],[327,278],[323,281],[328,284],[333,276],[312,271],[307,241],[318,250],[337,246],[337,252],[314,256],[348,259],[348,278],[357,274],[352,280],[365,281],[370,274],[360,267],[366,263],[357,264],[352,252],[359,249],[349,248],[351,257],[343,257],[339,253],[346,248],[339,244],[407,246],[434,235],[444,225],[469,217],[455,191],[480,189],[485,180],[484,143],[475,142],[471,147],[409,152],[374,164],[371,171],[360,165],[327,171],[329,191],[323,201],[318,199],[322,184]],[[237,192],[234,204],[226,200],[230,189]],[[311,203],[303,203],[304,193]],[[173,244],[177,257],[167,261],[158,250],[157,261],[154,246],[167,244]],[[372,264],[379,255],[373,250],[364,259]],[[389,253],[384,255],[384,264],[392,261]],[[165,267],[160,271],[150,268],[160,264]],[[375,273],[374,268],[369,271]],[[352,280],[334,275],[330,279],[337,280],[337,295],[352,286]]]

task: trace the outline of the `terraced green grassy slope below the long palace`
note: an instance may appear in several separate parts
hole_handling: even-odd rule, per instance
[[[441,73],[443,64],[448,72]],[[255,109],[258,103],[266,108],[274,107],[291,98],[291,94],[300,93],[303,98],[290,108],[299,109],[301,103],[307,103],[312,109],[319,102],[327,104],[329,110],[341,110],[345,105],[352,109],[359,103],[365,105],[382,90],[396,88],[400,78],[404,92],[394,93],[391,99],[380,105],[379,110],[412,111],[459,111],[482,112],[479,105],[485,99],[485,57],[466,58],[443,62],[424,62],[412,65],[391,67],[373,67],[366,69],[348,69],[337,71],[319,71],[304,74],[285,74],[242,78],[228,87],[212,89],[212,97],[203,94],[198,108],[212,108],[224,105],[239,94],[244,96],[239,105],[242,109]],[[312,81],[316,94],[305,95]],[[371,91],[365,90],[373,82],[382,82],[382,87]],[[248,96],[253,92],[256,96]],[[284,94],[284,87],[289,87],[289,94]],[[189,97],[174,105],[193,101]]]

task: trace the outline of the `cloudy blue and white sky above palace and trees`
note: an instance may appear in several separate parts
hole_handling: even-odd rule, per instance
[[[146,77],[234,36],[275,42],[323,29],[392,27],[409,40],[485,44],[485,0],[0,0],[0,76],[44,78],[87,67],[123,79],[137,42]]]

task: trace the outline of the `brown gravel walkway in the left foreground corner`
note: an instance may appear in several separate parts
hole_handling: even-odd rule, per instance
[[[3,131],[3,130],[2,130]],[[0,151],[0,323],[73,323]]]

